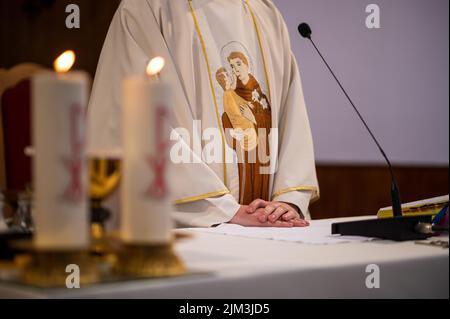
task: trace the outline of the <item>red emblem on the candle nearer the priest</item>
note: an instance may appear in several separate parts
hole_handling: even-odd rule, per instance
[[[147,189],[146,195],[152,198],[164,198],[168,193],[167,181],[165,178],[167,170],[167,141],[165,125],[167,124],[168,112],[163,106],[156,108],[155,116],[155,155],[150,155],[147,162],[153,171],[153,181]]]

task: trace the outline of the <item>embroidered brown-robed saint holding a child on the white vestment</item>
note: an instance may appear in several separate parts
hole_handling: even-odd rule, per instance
[[[248,205],[255,198],[269,200],[272,114],[267,95],[251,73],[250,56],[242,51],[222,50],[227,65],[217,70],[216,80],[223,88],[226,141],[238,157],[239,202]]]

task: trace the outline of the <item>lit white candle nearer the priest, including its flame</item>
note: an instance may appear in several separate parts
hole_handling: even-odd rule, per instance
[[[149,64],[155,64],[155,61]],[[156,74],[162,69],[149,73]],[[171,241],[169,164],[170,86],[155,76],[132,76],[122,88],[122,239],[134,244]]]

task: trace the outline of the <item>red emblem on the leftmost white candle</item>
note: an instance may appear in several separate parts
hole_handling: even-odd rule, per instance
[[[81,130],[83,110],[78,104],[70,108],[70,155],[63,158],[64,166],[70,177],[64,198],[71,202],[79,202],[84,196],[82,183],[84,135]]]

